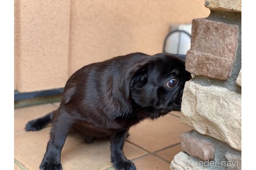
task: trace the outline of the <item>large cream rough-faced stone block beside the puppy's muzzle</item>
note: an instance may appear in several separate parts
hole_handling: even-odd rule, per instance
[[[241,94],[217,86],[185,83],[181,121],[201,134],[241,150]]]

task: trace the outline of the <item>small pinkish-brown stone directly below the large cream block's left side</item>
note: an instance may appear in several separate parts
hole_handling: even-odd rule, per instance
[[[195,137],[190,132],[181,135],[181,149],[203,161],[213,160],[216,146],[203,138]]]

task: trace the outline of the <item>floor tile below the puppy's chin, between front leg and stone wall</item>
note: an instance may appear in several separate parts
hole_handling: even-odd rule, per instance
[[[131,127],[131,136],[127,140],[149,152],[154,152],[180,143],[181,134],[190,130],[191,127],[182,124],[180,118],[169,114],[154,121],[144,120]]]

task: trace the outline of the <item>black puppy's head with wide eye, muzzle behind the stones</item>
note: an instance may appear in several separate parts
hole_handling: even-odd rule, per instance
[[[129,96],[146,108],[151,118],[181,109],[184,84],[191,78],[183,59],[161,53],[148,56],[131,69],[136,71],[129,83]]]

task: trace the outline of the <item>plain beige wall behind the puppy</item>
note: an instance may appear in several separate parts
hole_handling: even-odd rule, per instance
[[[65,86],[80,67],[131,52],[155,54],[174,23],[208,17],[204,0],[15,2],[15,89]]]

